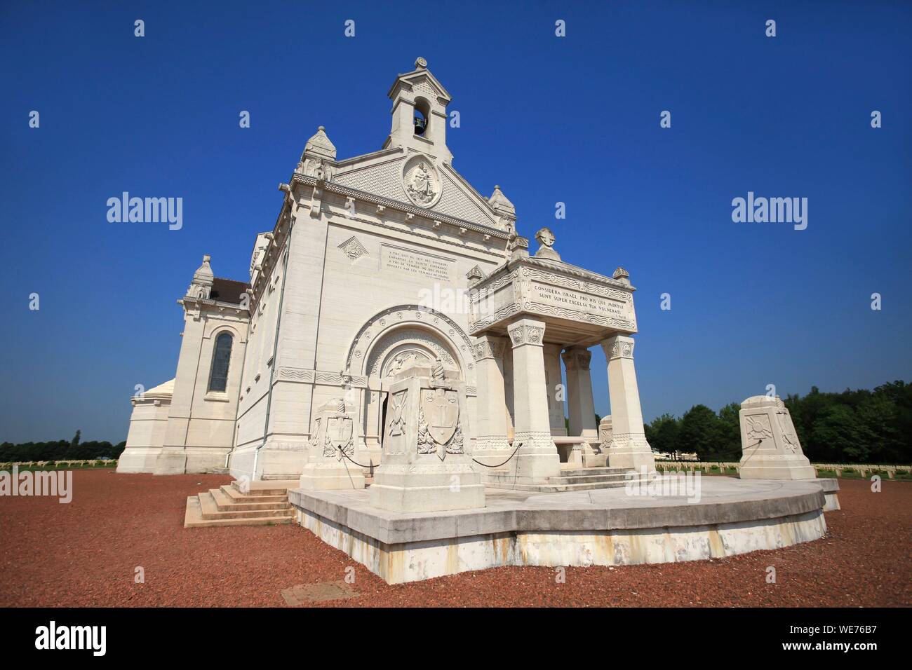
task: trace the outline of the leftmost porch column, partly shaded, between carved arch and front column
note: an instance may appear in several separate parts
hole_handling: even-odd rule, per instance
[[[503,462],[511,453],[507,440],[507,405],[503,387],[503,352],[506,339],[496,335],[475,338],[475,448],[472,458],[487,465]]]

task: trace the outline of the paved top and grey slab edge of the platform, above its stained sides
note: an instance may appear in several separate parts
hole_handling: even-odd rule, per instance
[[[676,528],[777,519],[821,510],[824,491],[814,480],[700,479],[700,500],[633,496],[624,489],[537,493],[485,491],[486,507],[397,514],[368,504],[367,490],[288,490],[302,510],[387,544],[471,537],[498,532],[607,531]]]

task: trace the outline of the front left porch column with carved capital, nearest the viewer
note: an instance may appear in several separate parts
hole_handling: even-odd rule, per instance
[[[561,471],[544,386],[544,322],[519,319],[507,332],[513,342],[513,448],[519,447],[512,468],[520,483],[544,483]]]

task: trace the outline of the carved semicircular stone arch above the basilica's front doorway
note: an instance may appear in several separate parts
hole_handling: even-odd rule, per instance
[[[410,347],[409,347],[410,345]],[[474,395],[472,341],[449,316],[417,304],[390,307],[371,317],[348,347],[351,375],[378,376],[389,366],[390,354],[408,351],[439,356],[444,366],[461,371]]]

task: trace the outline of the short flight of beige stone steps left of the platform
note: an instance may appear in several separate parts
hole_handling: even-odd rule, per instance
[[[297,479],[253,481],[249,490],[233,481],[218,489],[203,491],[187,499],[184,528],[209,526],[275,526],[293,523],[294,510],[288,502],[288,489],[296,489]]]

